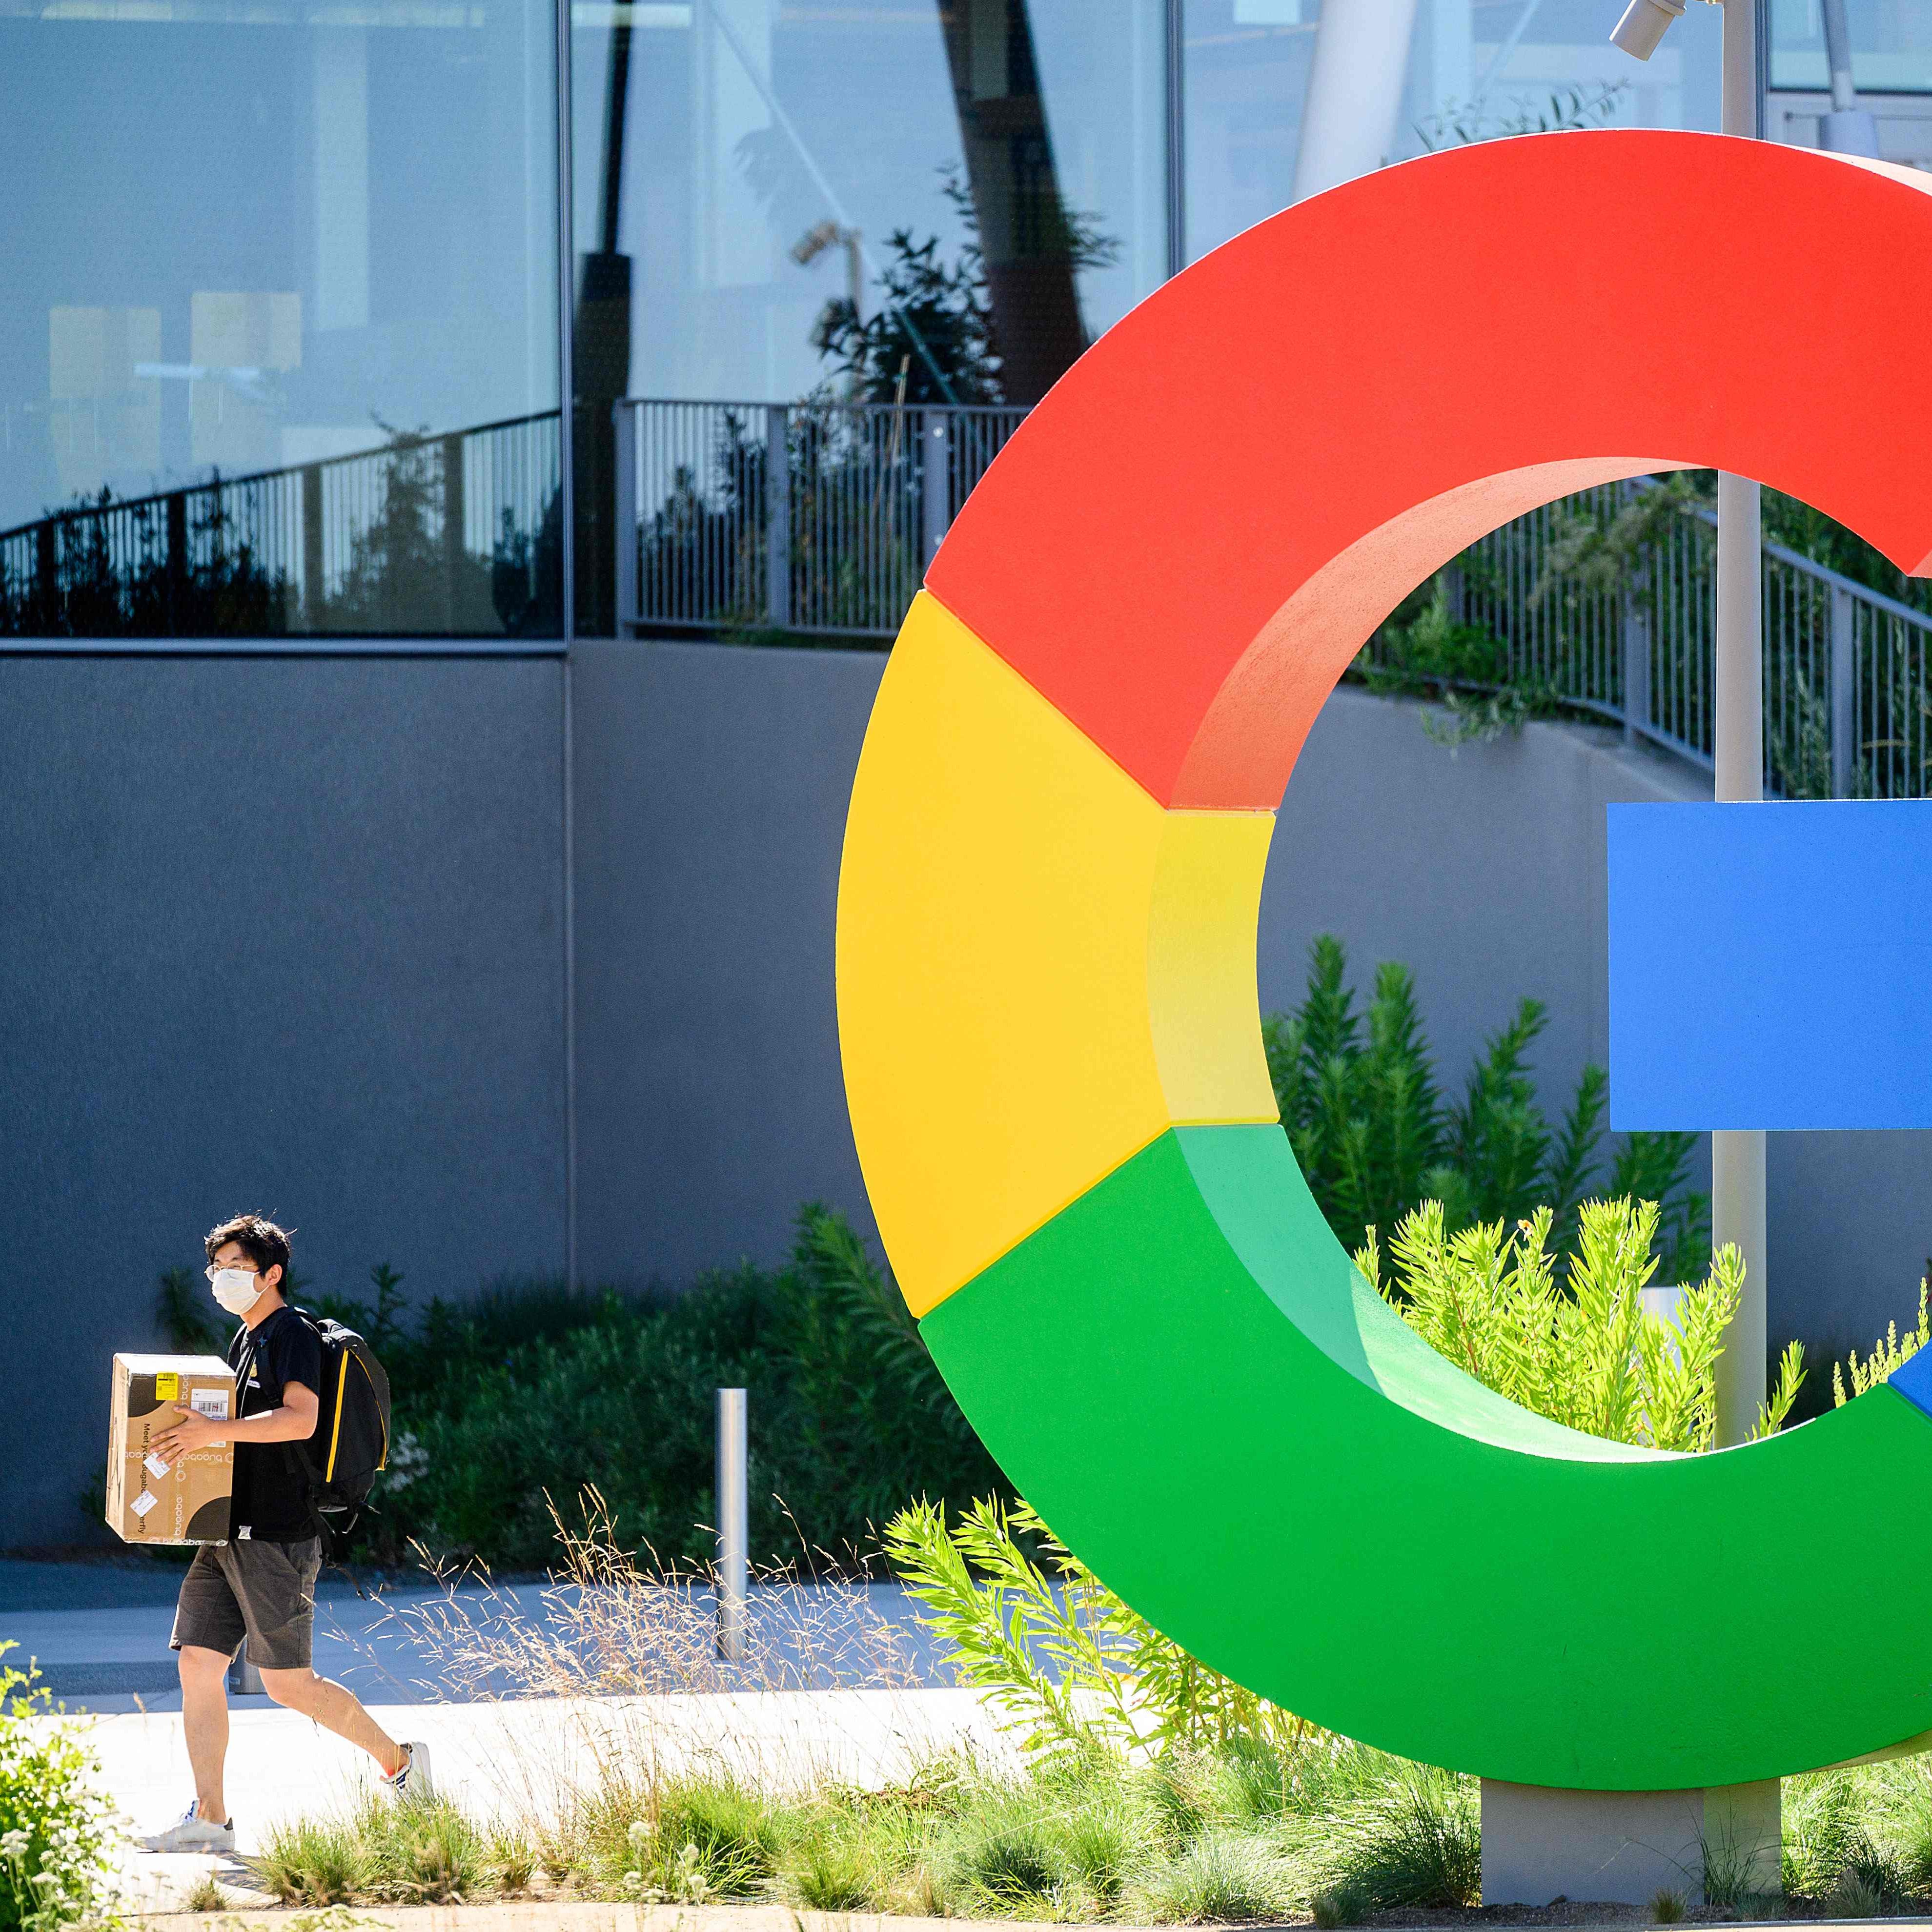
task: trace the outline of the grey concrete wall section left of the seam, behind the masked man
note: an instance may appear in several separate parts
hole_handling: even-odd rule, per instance
[[[564,1260],[562,667],[0,659],[0,1548],[242,1208],[319,1287]]]

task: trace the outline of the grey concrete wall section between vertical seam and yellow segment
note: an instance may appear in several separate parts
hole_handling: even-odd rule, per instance
[[[578,1265],[775,1262],[869,1229],[833,1003],[838,846],[885,659],[580,643]]]

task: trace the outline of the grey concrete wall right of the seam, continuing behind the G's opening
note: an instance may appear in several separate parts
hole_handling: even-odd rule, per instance
[[[883,659],[719,645],[576,657],[580,1258],[682,1281],[779,1260],[798,1202],[869,1227],[838,1080],[833,920]],[[1544,1103],[1607,1057],[1604,808],[1708,798],[1621,736],[1530,724],[1455,753],[1422,707],[1345,688],[1283,802],[1264,1007],[1333,931],[1366,993],[1406,962],[1447,1088],[1532,995]],[[1932,1136],[1774,1136],[1772,1333],[1861,1347],[1917,1298]]]

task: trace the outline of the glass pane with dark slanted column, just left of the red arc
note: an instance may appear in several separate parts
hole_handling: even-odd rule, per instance
[[[1161,280],[1163,17],[578,0],[580,628],[612,624],[618,396],[1036,402]]]

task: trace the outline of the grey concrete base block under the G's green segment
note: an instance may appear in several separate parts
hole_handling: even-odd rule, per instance
[[[1482,1781],[1482,1903],[1650,1905],[1777,1891],[1777,1779],[1710,1791],[1553,1791]]]

